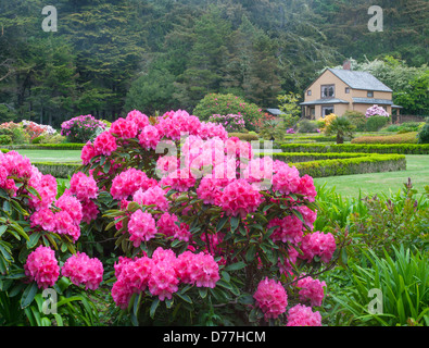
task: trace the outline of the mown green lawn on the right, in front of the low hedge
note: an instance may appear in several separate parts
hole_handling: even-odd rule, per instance
[[[408,177],[414,188],[421,194],[424,187],[429,185],[429,156],[406,156],[406,171],[320,177],[314,182],[316,185],[326,183],[327,188],[335,187],[342,196],[357,197],[359,189],[363,194],[373,195],[389,194],[389,190],[398,192]]]

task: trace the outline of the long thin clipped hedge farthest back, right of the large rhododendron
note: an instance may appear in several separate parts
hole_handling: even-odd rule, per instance
[[[429,154],[429,144],[282,144],[280,147],[286,152]]]

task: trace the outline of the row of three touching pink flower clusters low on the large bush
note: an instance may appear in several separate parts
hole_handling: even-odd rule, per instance
[[[219,279],[218,265],[212,256],[188,251],[176,257],[173,250],[161,247],[152,258],[119,258],[114,268],[117,281],[112,287],[112,297],[123,309],[133,294],[146,289],[163,301],[172,298],[180,283],[214,287]]]

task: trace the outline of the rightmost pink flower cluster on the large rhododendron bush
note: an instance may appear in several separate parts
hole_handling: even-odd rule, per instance
[[[319,257],[323,262],[329,262],[332,259],[337,245],[332,234],[314,232],[303,237],[301,250],[304,253],[303,259],[312,261],[314,257]]]

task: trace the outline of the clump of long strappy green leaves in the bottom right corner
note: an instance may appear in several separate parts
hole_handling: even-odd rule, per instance
[[[429,326],[427,264],[427,253],[403,246],[382,257],[361,249],[359,258],[349,261],[345,286],[332,295],[333,315],[342,325]],[[380,291],[380,302],[371,301],[371,289]]]

